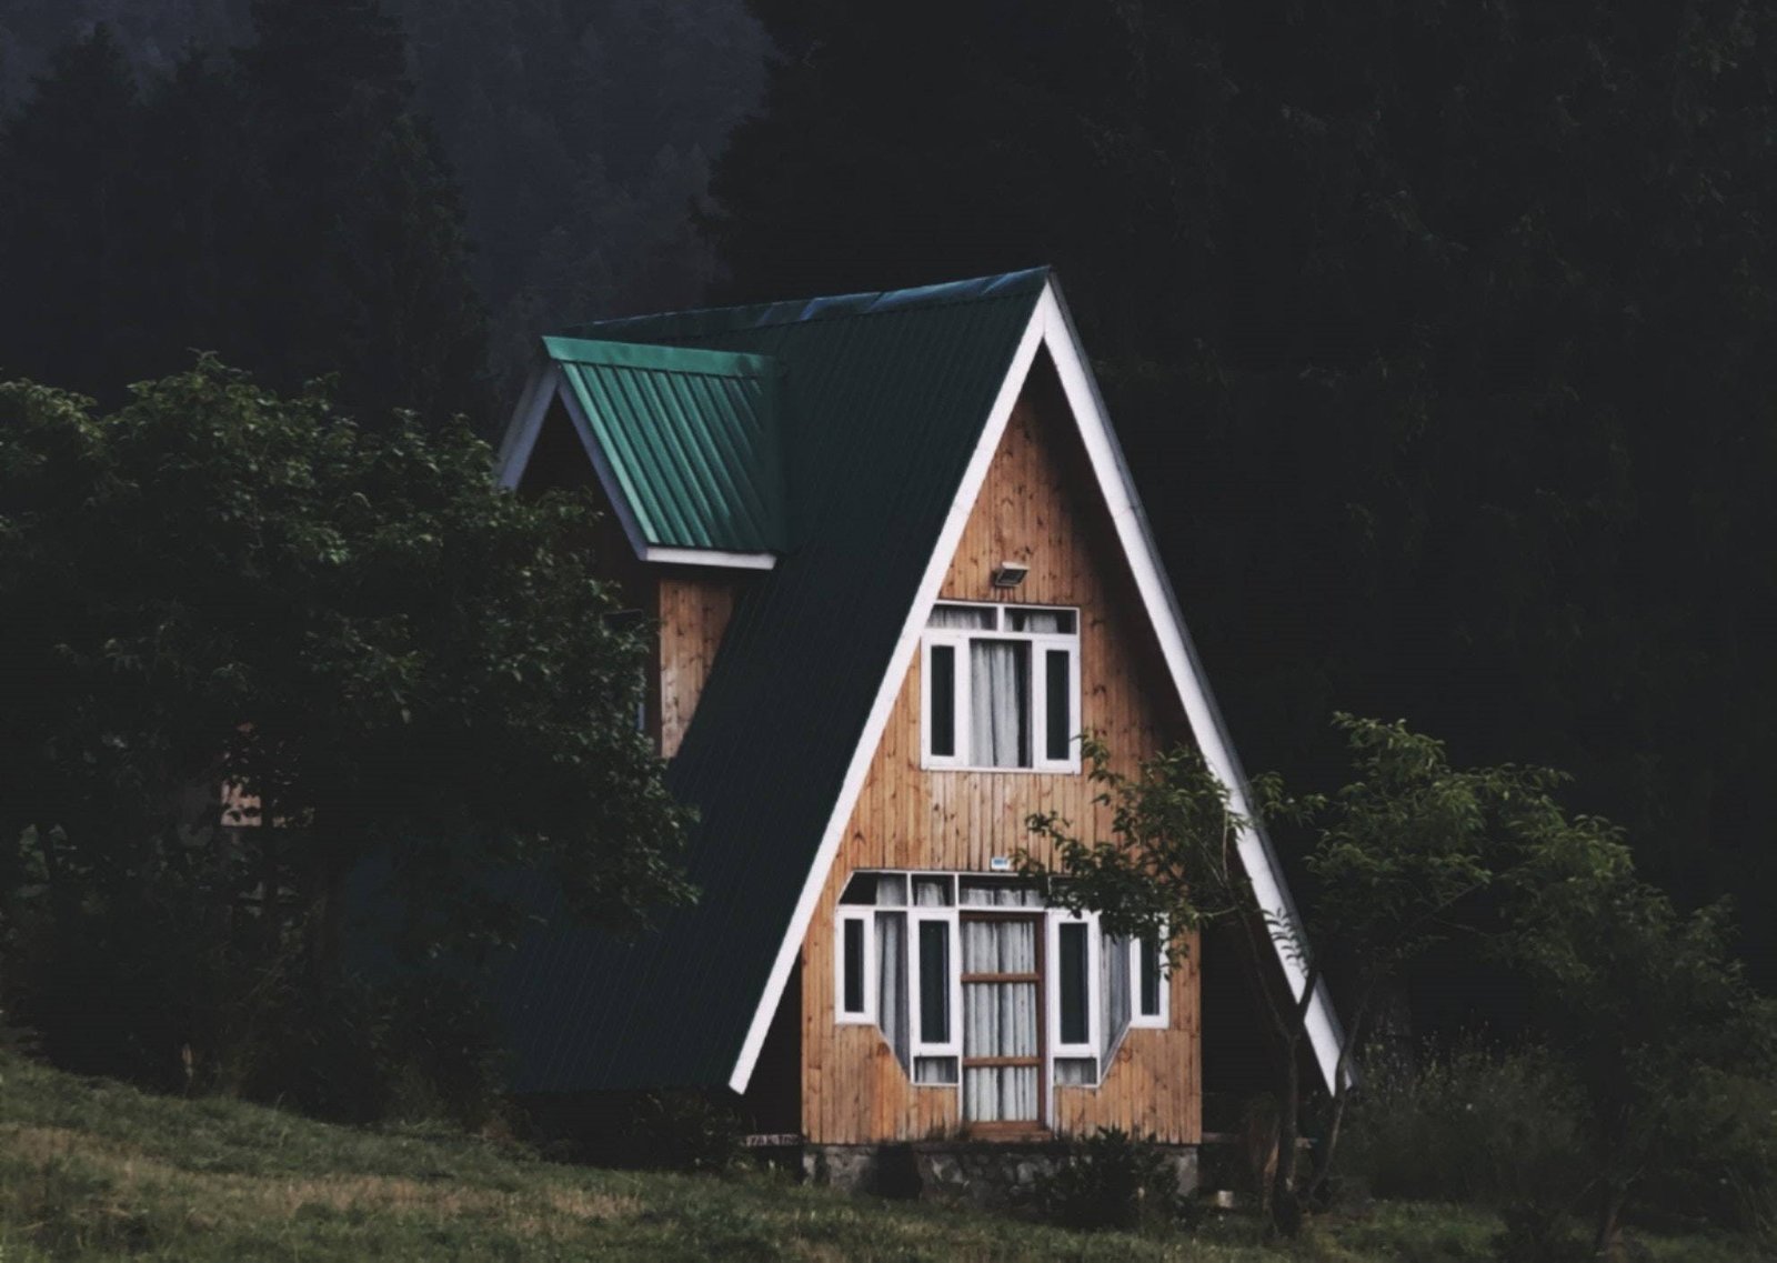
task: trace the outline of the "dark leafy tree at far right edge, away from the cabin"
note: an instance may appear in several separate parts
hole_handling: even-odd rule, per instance
[[[1777,1007],[1729,950],[1725,902],[1679,913],[1610,824],[1558,814],[1509,883],[1503,954],[1535,979],[1585,1094],[1599,1258],[1619,1256],[1624,1208],[1658,1174],[1768,1187]]]

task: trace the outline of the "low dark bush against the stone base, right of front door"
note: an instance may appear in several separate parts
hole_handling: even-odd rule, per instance
[[[1038,1180],[1032,1201],[1041,1219],[1086,1233],[1169,1227],[1191,1215],[1166,1153],[1121,1128],[1098,1128],[1075,1144]]]

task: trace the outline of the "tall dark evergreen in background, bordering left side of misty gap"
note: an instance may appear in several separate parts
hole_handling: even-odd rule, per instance
[[[256,163],[254,368],[339,373],[364,416],[485,414],[485,330],[455,190],[375,0],[261,0],[242,53]]]

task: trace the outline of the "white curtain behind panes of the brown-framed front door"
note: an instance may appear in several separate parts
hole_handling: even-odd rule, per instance
[[[965,920],[965,973],[1034,973],[1036,924]],[[1036,1057],[1036,982],[970,982],[963,988],[965,1057]],[[979,1123],[1036,1121],[1036,1066],[970,1068],[963,1114]]]

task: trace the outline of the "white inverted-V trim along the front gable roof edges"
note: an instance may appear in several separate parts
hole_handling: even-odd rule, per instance
[[[976,442],[976,451],[968,460],[968,469],[963,473],[956,499],[951,503],[951,512],[944,520],[944,529],[938,535],[938,544],[933,549],[931,561],[926,565],[926,577],[919,584],[919,592],[908,609],[906,622],[901,627],[901,638],[896,641],[894,654],[888,659],[883,680],[876,691],[876,702],[871,705],[869,718],[864,721],[864,732],[858,737],[858,746],[851,753],[851,766],[846,771],[846,780],[841,785],[839,798],[833,801],[833,814],[828,817],[826,830],[821,835],[814,863],[809,869],[809,876],[803,879],[801,897],[796,901],[796,911],[791,917],[789,931],[778,947],[777,959],[773,961],[771,973],[766,981],[764,995],[759,998],[752,1025],[746,1030],[746,1039],[741,1045],[741,1055],[734,1064],[734,1073],[729,1076],[729,1087],[736,1092],[745,1092],[746,1084],[752,1080],[753,1066],[759,1060],[759,1050],[764,1046],[766,1030],[769,1029],[777,1005],[784,997],[784,986],[789,981],[791,966],[801,952],[801,940],[809,933],[809,922],[814,918],[816,904],[821,899],[821,888],[826,885],[826,874],[832,869],[833,856],[844,838],[846,822],[851,819],[851,808],[857,806],[858,794],[864,789],[864,778],[869,771],[871,760],[876,757],[883,728],[888,723],[888,712],[894,709],[894,702],[901,693],[908,666],[913,661],[913,652],[919,648],[919,638],[926,625],[926,615],[933,600],[936,600],[938,590],[944,586],[944,576],[951,568],[951,558],[961,542],[963,529],[968,524],[968,515],[974,510],[983,483],[986,481],[988,467],[993,464],[993,453],[999,449],[1000,437],[1006,432],[1006,421],[1011,417],[1013,403],[1016,403],[1025,378],[1031,375],[1031,364],[1036,361],[1040,346],[1048,346],[1050,359],[1061,377],[1061,385],[1068,398],[1068,409],[1073,412],[1073,421],[1086,444],[1088,458],[1091,460],[1093,474],[1098,481],[1098,490],[1105,497],[1105,504],[1111,508],[1111,520],[1116,526],[1118,542],[1123,545],[1125,558],[1136,576],[1136,586],[1160,641],[1160,652],[1166,657],[1173,684],[1185,707],[1185,718],[1191,723],[1191,732],[1198,741],[1198,748],[1203,751],[1203,759],[1210,766],[1210,771],[1214,771],[1215,776],[1230,787],[1235,810],[1247,817],[1253,814],[1246,776],[1235,759],[1233,743],[1228,739],[1226,725],[1221,719],[1208,680],[1198,663],[1191,634],[1185,631],[1185,622],[1178,611],[1178,599],[1173,593],[1171,583],[1166,579],[1159,549],[1155,547],[1153,535],[1148,529],[1148,519],[1141,512],[1141,499],[1136,494],[1134,478],[1130,478],[1128,465],[1123,462],[1123,451],[1118,446],[1116,433],[1111,430],[1104,400],[1098,394],[1098,384],[1093,380],[1091,368],[1080,350],[1073,322],[1061,300],[1061,291],[1056,288],[1054,279],[1050,279],[1036,302],[1036,309],[1031,313],[1031,323],[1025,325],[1024,336],[1018,341],[1018,350],[1013,353],[1011,366],[1000,384],[999,396],[993,400],[993,407],[988,412],[988,421],[981,430],[981,439]],[[1239,846],[1240,862],[1246,865],[1246,870],[1253,879],[1253,892],[1258,897],[1260,906],[1272,910],[1278,920],[1288,927],[1287,933],[1272,933],[1272,945],[1278,950],[1278,963],[1283,968],[1283,977],[1290,984],[1290,995],[1301,997],[1306,975],[1301,961],[1292,952],[1288,934],[1294,933],[1301,936],[1303,924],[1295,910],[1295,902],[1290,899],[1288,886],[1283,881],[1283,870],[1278,863],[1276,853],[1272,851],[1271,840],[1265,833],[1256,828],[1246,830],[1240,835]],[[1342,1034],[1326,984],[1315,988],[1315,998],[1308,1011],[1308,1039],[1315,1052],[1315,1062],[1320,1066],[1320,1075],[1324,1082],[1331,1085],[1333,1076],[1336,1075]]]

